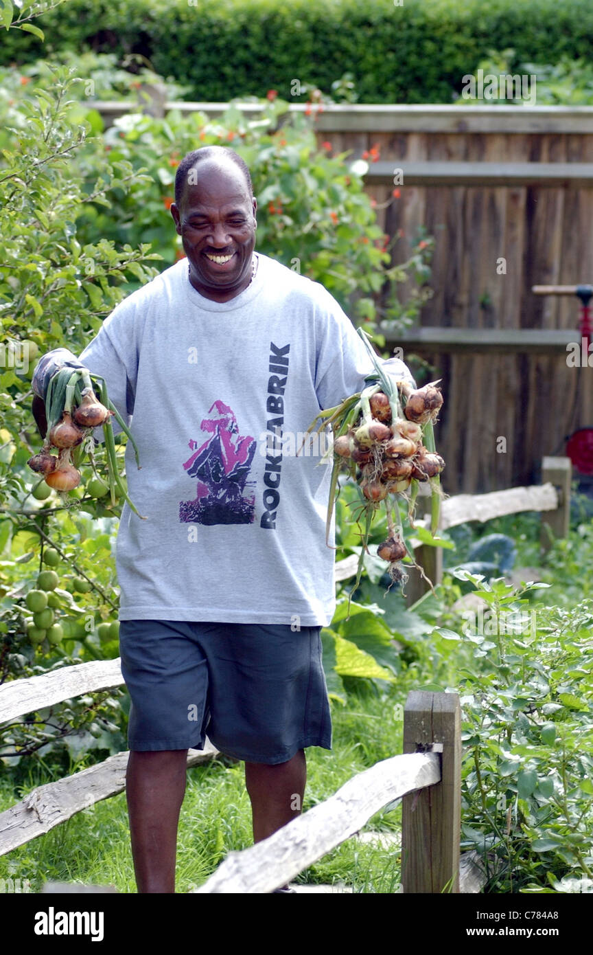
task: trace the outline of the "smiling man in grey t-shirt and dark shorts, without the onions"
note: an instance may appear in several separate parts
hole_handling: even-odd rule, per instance
[[[256,199],[233,150],[186,156],[171,212],[187,258],[117,306],[79,359],[49,352],[33,378],[43,399],[63,364],[103,375],[139,449],[126,475],[147,520],[125,504],[116,550],[139,892],[174,892],[186,755],[206,732],[245,762],[256,841],[300,812],[305,749],[331,749],[331,468],[284,439],[295,447],[373,371],[329,292],[255,252]]]

